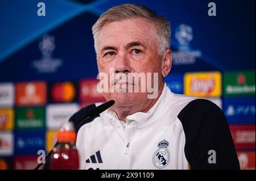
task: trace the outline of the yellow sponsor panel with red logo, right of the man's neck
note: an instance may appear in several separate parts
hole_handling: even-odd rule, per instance
[[[186,73],[184,75],[184,93],[191,96],[221,96],[221,73],[218,71]]]

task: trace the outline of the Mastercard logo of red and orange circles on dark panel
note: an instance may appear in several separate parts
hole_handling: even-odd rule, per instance
[[[55,83],[51,90],[52,100],[55,102],[72,102],[76,96],[76,89],[72,82]]]

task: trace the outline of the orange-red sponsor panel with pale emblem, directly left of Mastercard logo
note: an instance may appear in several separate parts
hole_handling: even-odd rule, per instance
[[[45,82],[20,82],[16,84],[17,106],[43,106],[45,103]]]

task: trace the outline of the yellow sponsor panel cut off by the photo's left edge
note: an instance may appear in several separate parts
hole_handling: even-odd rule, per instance
[[[11,130],[14,124],[13,109],[0,109],[0,130]]]

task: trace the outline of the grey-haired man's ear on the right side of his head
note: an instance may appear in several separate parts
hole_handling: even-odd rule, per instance
[[[167,49],[164,51],[162,56],[162,75],[166,77],[172,66],[172,56],[171,56],[171,49]]]

